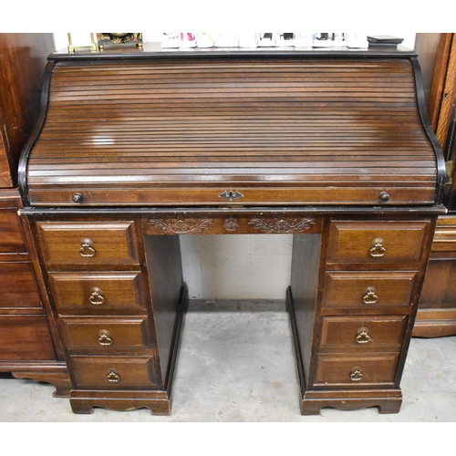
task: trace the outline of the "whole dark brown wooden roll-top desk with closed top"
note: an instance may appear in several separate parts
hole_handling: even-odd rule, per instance
[[[51,55],[21,214],[73,410],[171,413],[180,235],[292,233],[301,412],[399,411],[444,212],[421,86],[403,48]]]

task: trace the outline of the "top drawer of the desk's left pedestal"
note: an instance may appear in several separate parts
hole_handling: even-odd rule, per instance
[[[139,264],[133,222],[37,223],[47,266]]]

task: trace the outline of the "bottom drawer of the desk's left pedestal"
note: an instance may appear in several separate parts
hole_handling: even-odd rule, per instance
[[[161,389],[155,358],[71,356],[78,389]]]

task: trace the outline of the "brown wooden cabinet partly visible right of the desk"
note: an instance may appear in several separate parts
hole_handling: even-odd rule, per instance
[[[423,34],[428,35],[428,34]],[[439,217],[423,285],[413,336],[456,335],[456,34],[440,34],[428,112],[432,129],[444,151],[447,171],[444,204]]]

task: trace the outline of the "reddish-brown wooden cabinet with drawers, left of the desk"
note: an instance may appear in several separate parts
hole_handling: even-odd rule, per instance
[[[56,385],[69,380],[28,223],[18,215],[17,163],[38,116],[52,34],[0,34],[0,372]]]

